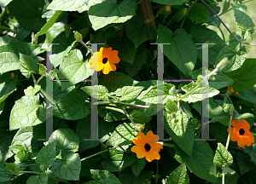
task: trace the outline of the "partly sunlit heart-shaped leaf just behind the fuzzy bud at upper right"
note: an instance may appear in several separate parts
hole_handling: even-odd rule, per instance
[[[240,51],[240,43],[231,43],[218,53],[216,65],[223,60],[224,57],[228,57],[229,63],[221,72],[231,72],[241,68],[242,64],[247,59],[247,53]]]

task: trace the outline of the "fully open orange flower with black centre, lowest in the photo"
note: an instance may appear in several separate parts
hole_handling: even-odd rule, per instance
[[[144,158],[148,160],[148,162],[152,162],[154,159],[160,159],[160,149],[163,149],[163,146],[160,143],[156,143],[159,141],[158,135],[154,135],[153,131],[148,131],[147,136],[143,134],[143,132],[139,132],[137,137],[132,140],[136,146],[131,147],[131,152],[135,152],[137,154],[137,158]]]

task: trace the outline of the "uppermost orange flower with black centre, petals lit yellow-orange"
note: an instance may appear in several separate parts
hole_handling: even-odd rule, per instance
[[[109,48],[101,48],[99,52],[95,52],[89,60],[90,68],[97,72],[101,71],[108,74],[110,71],[115,71],[116,66],[113,63],[119,63],[119,51]]]

